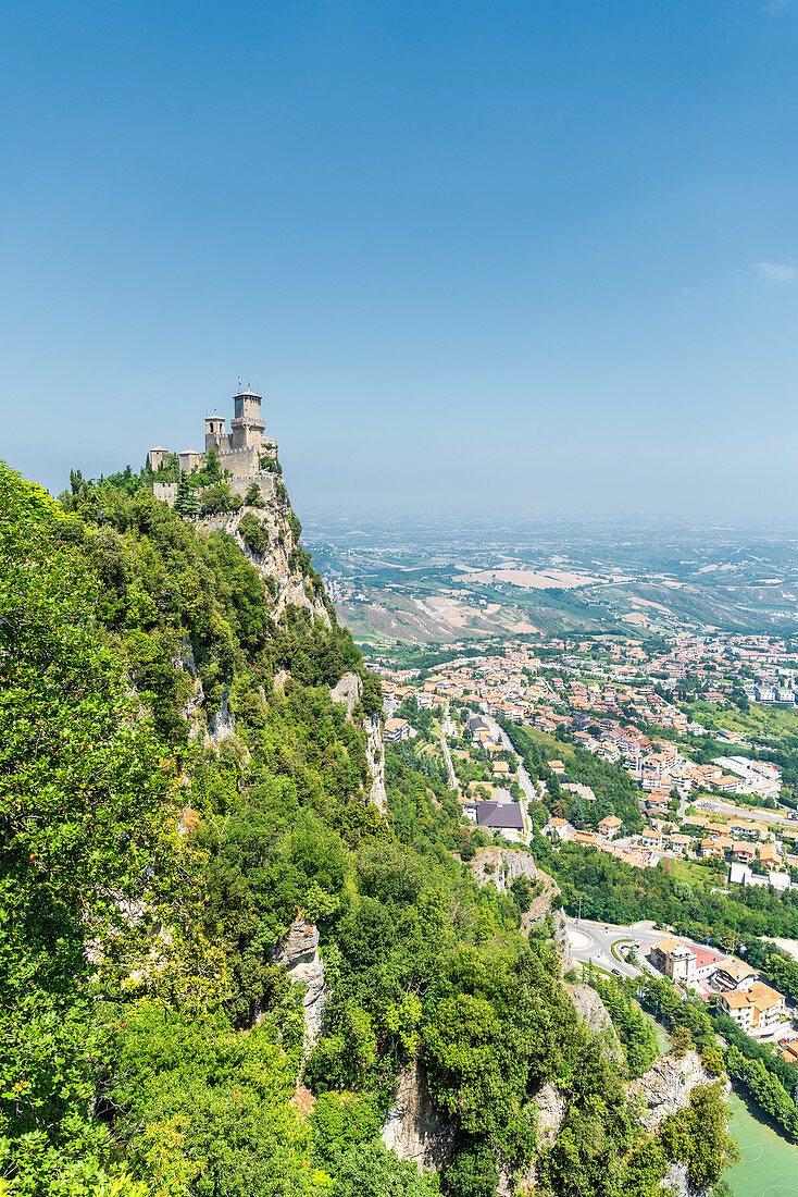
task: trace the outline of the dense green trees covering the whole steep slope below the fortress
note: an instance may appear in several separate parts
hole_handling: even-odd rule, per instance
[[[529,886],[464,863],[482,833],[440,771],[389,751],[389,816],[368,803],[379,683],[348,633],[278,618],[238,542],[146,476],[73,484],[60,508],[0,474],[0,1192],[426,1197],[438,1180],[378,1137],[416,1061],[457,1135],[449,1193],[487,1197],[536,1152],[548,1195],[653,1193],[669,1154],[712,1180],[717,1094],[646,1140],[544,926],[519,931]],[[348,672],[352,717],[330,695]],[[274,961],[299,912],[330,986],[305,1062]],[[615,1015],[640,1068],[622,995]],[[566,1117],[540,1149],[544,1082]]]

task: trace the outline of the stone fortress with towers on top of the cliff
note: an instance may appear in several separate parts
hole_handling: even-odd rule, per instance
[[[233,395],[234,415],[230,421],[230,432],[225,431],[223,415],[206,415],[205,452],[196,452],[194,449],[173,452],[157,445],[150,450],[153,472],[157,473],[167,457],[175,456],[181,474],[191,474],[206,464],[208,452],[213,449],[221,475],[230,474],[226,482],[233,494],[239,494],[243,499],[255,482],[263,498],[269,499],[274,494],[278,476],[278,444],[263,436],[266,424],[261,402],[261,396],[254,391],[239,390]],[[153,493],[157,499],[171,506],[177,497],[177,482],[156,482]]]

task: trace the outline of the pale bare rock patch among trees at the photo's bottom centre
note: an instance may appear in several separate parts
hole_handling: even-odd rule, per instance
[[[419,1172],[439,1169],[450,1157],[456,1129],[433,1105],[427,1075],[419,1061],[400,1074],[380,1135],[389,1150],[396,1152],[400,1160],[412,1160]]]

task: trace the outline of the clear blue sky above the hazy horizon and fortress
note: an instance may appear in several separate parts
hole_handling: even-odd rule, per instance
[[[0,454],[300,515],[793,515],[798,0],[6,4]]]

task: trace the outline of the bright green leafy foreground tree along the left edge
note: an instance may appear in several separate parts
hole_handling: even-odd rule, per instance
[[[102,591],[57,517],[0,464],[0,1162],[19,1193],[120,1174],[91,1118],[100,1037],[84,947],[109,946],[114,984],[130,935],[112,895],[140,898],[167,844],[152,729],[92,627]]]

